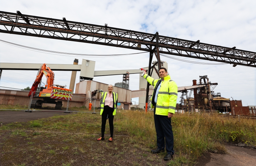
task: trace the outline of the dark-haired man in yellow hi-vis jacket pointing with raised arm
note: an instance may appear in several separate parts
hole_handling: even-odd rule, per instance
[[[171,160],[173,150],[173,133],[171,127],[171,117],[175,113],[176,100],[178,95],[177,84],[167,75],[166,68],[159,69],[158,80],[147,75],[144,72],[144,78],[154,86],[154,92],[151,97],[151,108],[154,108],[155,130],[157,138],[157,149],[151,150],[152,153],[164,152],[166,145],[167,155],[164,160]],[[164,143],[165,138],[165,143]]]

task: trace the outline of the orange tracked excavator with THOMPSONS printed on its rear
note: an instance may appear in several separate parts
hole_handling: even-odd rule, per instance
[[[39,84],[41,85],[43,75],[46,76],[47,84],[44,87],[38,87]],[[55,109],[61,109],[61,100],[72,100],[72,90],[65,87],[54,84],[54,73],[47,64],[43,64],[28,94],[29,97],[32,95],[33,97],[39,97],[39,99],[33,99],[30,108],[42,108],[43,103],[48,103],[55,104]]]

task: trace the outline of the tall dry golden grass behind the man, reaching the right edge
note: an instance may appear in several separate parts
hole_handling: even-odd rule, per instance
[[[155,148],[153,113],[127,111],[115,117],[114,126],[131,136],[130,142]],[[171,119],[176,157],[169,164],[191,164],[203,152],[225,153],[223,143],[256,145],[255,119],[222,117],[218,114],[175,114]],[[176,163],[176,164],[175,164]],[[178,165],[179,165],[178,164]]]

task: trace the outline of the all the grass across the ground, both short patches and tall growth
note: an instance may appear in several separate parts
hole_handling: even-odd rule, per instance
[[[171,119],[174,134],[175,158],[167,162],[167,165],[192,165],[196,159],[204,152],[225,153],[224,143],[246,143],[256,146],[256,120],[248,118],[223,117],[219,114],[175,114]],[[100,134],[101,116],[99,114],[76,113],[67,115],[56,115],[40,120],[29,121],[26,123],[10,123],[0,127],[1,130],[11,130],[12,136],[28,136],[25,131],[34,131],[31,133],[33,138],[54,137],[51,132],[70,132],[82,133],[73,139],[72,136],[65,137],[63,142],[65,146],[59,147],[62,151],[71,151],[73,155],[85,154],[87,148],[77,146],[77,141],[81,139],[94,138]],[[109,132],[108,122],[106,124],[106,133]],[[44,133],[45,132],[45,133]],[[117,133],[122,132],[122,133]],[[134,149],[141,149],[150,152],[150,149],[156,148],[156,132],[154,124],[154,115],[152,112],[144,113],[138,111],[122,111],[114,117],[114,135],[129,135],[125,137],[121,146]],[[55,135],[56,136],[56,135]],[[115,136],[114,136],[115,138]],[[73,146],[68,145],[69,143]],[[114,141],[115,143],[115,141]],[[27,142],[33,145],[33,142]],[[67,146],[67,145],[68,146]],[[75,147],[74,147],[75,146]],[[106,143],[108,147],[108,143]],[[120,150],[120,155],[124,154],[125,148]],[[47,150],[47,155],[58,154],[58,150]],[[138,157],[136,151],[134,156]],[[157,155],[161,159],[166,153]],[[109,154],[111,155],[111,154]],[[108,155],[108,156],[109,156]],[[152,158],[149,154],[142,154],[142,157],[151,160],[160,160],[157,157]],[[48,162],[48,161],[41,161]],[[72,162],[62,162],[63,165],[69,165]],[[134,163],[135,165],[138,163]],[[150,163],[149,163],[150,164]]]

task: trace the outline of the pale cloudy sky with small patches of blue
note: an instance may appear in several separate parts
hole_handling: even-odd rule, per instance
[[[256,52],[256,2],[255,1],[3,1],[0,11],[13,12],[47,18],[85,22],[96,25],[135,30],[186,40],[234,47]],[[0,39],[12,43],[59,52],[82,54],[137,53],[103,45],[72,41],[19,36],[0,33]],[[139,69],[148,65],[149,53],[124,57],[85,57],[96,61],[95,70]],[[72,64],[74,58],[38,53],[0,43],[0,62],[6,63],[56,63]],[[155,59],[154,59],[155,60]],[[178,86],[192,85],[200,75],[208,75],[217,82],[214,89],[222,97],[242,100],[244,106],[256,105],[256,69],[244,66],[198,65],[161,57],[168,63],[172,80]],[[204,60],[194,60],[210,62]],[[215,62],[214,62],[215,63]],[[32,85],[37,71],[4,70],[0,86],[25,88]],[[77,72],[76,83],[80,72]],[[55,83],[69,87],[71,72],[55,71]],[[114,84],[122,76],[95,77],[95,81]],[[138,90],[139,75],[130,75],[130,89]],[[181,94],[179,94],[180,96]],[[179,98],[178,98],[179,100]],[[138,101],[138,99],[134,99]],[[177,101],[178,102],[178,101]]]

